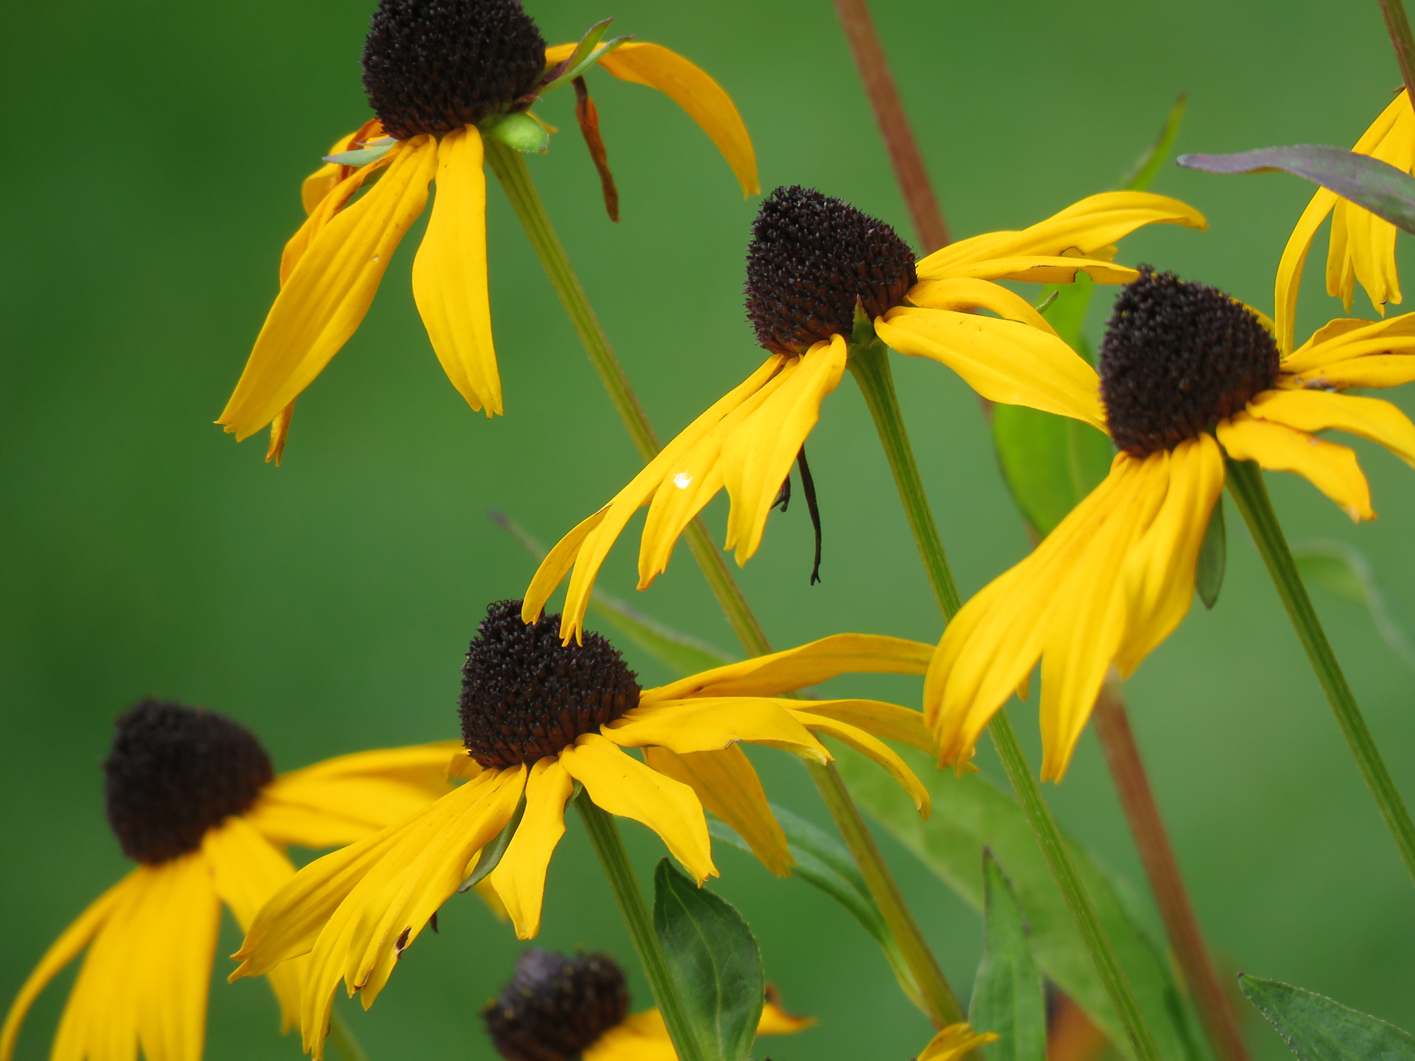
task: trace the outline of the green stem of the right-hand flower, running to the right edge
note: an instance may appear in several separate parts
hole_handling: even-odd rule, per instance
[[[1242,512],[1242,518],[1248,523],[1248,532],[1262,555],[1262,562],[1268,564],[1268,574],[1272,576],[1272,583],[1278,587],[1278,596],[1282,597],[1282,605],[1288,610],[1292,628],[1298,631],[1298,639],[1307,654],[1312,669],[1316,671],[1322,692],[1326,693],[1327,703],[1332,705],[1332,713],[1336,716],[1337,726],[1341,727],[1341,736],[1346,737],[1351,757],[1375,798],[1375,806],[1385,821],[1385,828],[1391,830],[1391,839],[1395,840],[1405,870],[1415,880],[1415,823],[1411,822],[1405,801],[1401,799],[1395,781],[1381,760],[1371,730],[1351,695],[1351,686],[1346,683],[1341,665],[1336,659],[1336,652],[1332,651],[1326,631],[1322,630],[1316,608],[1312,607],[1307,587],[1302,584],[1302,576],[1292,560],[1292,550],[1288,549],[1288,539],[1283,538],[1282,526],[1278,523],[1278,514],[1272,509],[1272,498],[1268,497],[1262,471],[1252,461],[1228,460],[1227,478],[1228,491],[1238,502],[1238,511]]]

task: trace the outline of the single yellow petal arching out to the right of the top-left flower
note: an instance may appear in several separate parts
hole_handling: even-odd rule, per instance
[[[549,55],[549,52],[548,52]],[[760,195],[757,156],[732,98],[706,72],[661,44],[627,41],[599,65],[620,81],[657,88],[688,112],[737,174],[741,195]]]

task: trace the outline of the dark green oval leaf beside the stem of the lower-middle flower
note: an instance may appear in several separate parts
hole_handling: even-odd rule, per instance
[[[741,914],[662,859],[654,870],[654,931],[703,1055],[746,1061],[767,982]]]

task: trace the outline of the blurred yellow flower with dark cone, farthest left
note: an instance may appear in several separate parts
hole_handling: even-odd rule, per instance
[[[344,755],[275,777],[249,730],[216,712],[144,700],[117,720],[103,763],[108,821],[137,869],[54,942],[0,1030],[10,1061],[44,986],[88,949],[54,1061],[197,1061],[221,907],[246,928],[294,866],[284,846],[351,843],[447,791],[449,746]],[[270,972],[283,1026],[303,962]]]

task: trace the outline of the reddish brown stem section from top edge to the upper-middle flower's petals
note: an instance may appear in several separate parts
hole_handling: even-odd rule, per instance
[[[908,215],[914,221],[914,232],[924,245],[924,253],[932,253],[948,246],[948,225],[944,224],[938,199],[934,198],[924,158],[918,153],[914,130],[910,129],[908,117],[904,115],[904,105],[899,99],[899,89],[894,86],[894,76],[890,74],[889,59],[884,58],[884,48],[880,47],[879,34],[874,33],[870,11],[865,0],[835,0],[835,11],[850,42],[855,65],[865,83],[865,95],[870,98],[870,106],[874,109],[874,122],[894,164],[894,177],[904,194]]]

